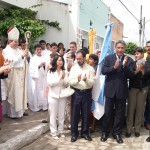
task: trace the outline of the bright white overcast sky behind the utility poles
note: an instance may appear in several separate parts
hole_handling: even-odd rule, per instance
[[[110,7],[112,14],[114,14],[124,24],[124,38],[125,41],[133,41],[138,44],[139,41],[139,24],[134,17],[126,10],[126,8],[119,2],[119,0],[102,0]],[[140,6],[143,6],[142,16],[150,20],[150,0],[121,0],[127,8],[140,19]],[[145,25],[145,40],[150,40],[150,21]]]

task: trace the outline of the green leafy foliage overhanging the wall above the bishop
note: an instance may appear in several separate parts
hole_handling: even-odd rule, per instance
[[[24,38],[24,33],[28,30],[31,32],[31,43],[36,38],[43,35],[46,31],[45,21],[36,19],[37,12],[31,9],[9,8],[0,10],[0,35],[7,37],[9,28],[16,26],[20,31],[20,38]],[[58,30],[59,23],[46,21],[48,26],[55,27]]]

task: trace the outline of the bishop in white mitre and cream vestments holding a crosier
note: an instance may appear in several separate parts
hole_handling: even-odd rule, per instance
[[[8,45],[2,54],[11,61],[12,71],[5,79],[7,96],[7,115],[10,118],[20,118],[27,109],[26,90],[26,56],[28,50],[22,52],[18,48],[19,30],[14,27],[8,30]]]

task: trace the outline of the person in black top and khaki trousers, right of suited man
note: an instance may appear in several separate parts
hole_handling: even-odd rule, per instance
[[[135,137],[140,136],[140,128],[143,121],[145,110],[145,101],[148,92],[148,76],[145,74],[143,49],[137,47],[135,52],[135,75],[129,81],[129,98],[127,111],[127,133],[126,137],[130,137],[134,126]],[[134,123],[134,124],[133,124]]]

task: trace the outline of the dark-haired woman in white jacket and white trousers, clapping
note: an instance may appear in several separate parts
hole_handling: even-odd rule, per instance
[[[50,132],[54,139],[59,139],[64,135],[64,119],[67,98],[60,98],[62,89],[68,85],[68,75],[64,71],[64,59],[62,56],[55,56],[52,61],[52,68],[47,74],[47,83],[50,87],[48,94],[48,103],[50,111]],[[58,129],[57,129],[58,117]]]

